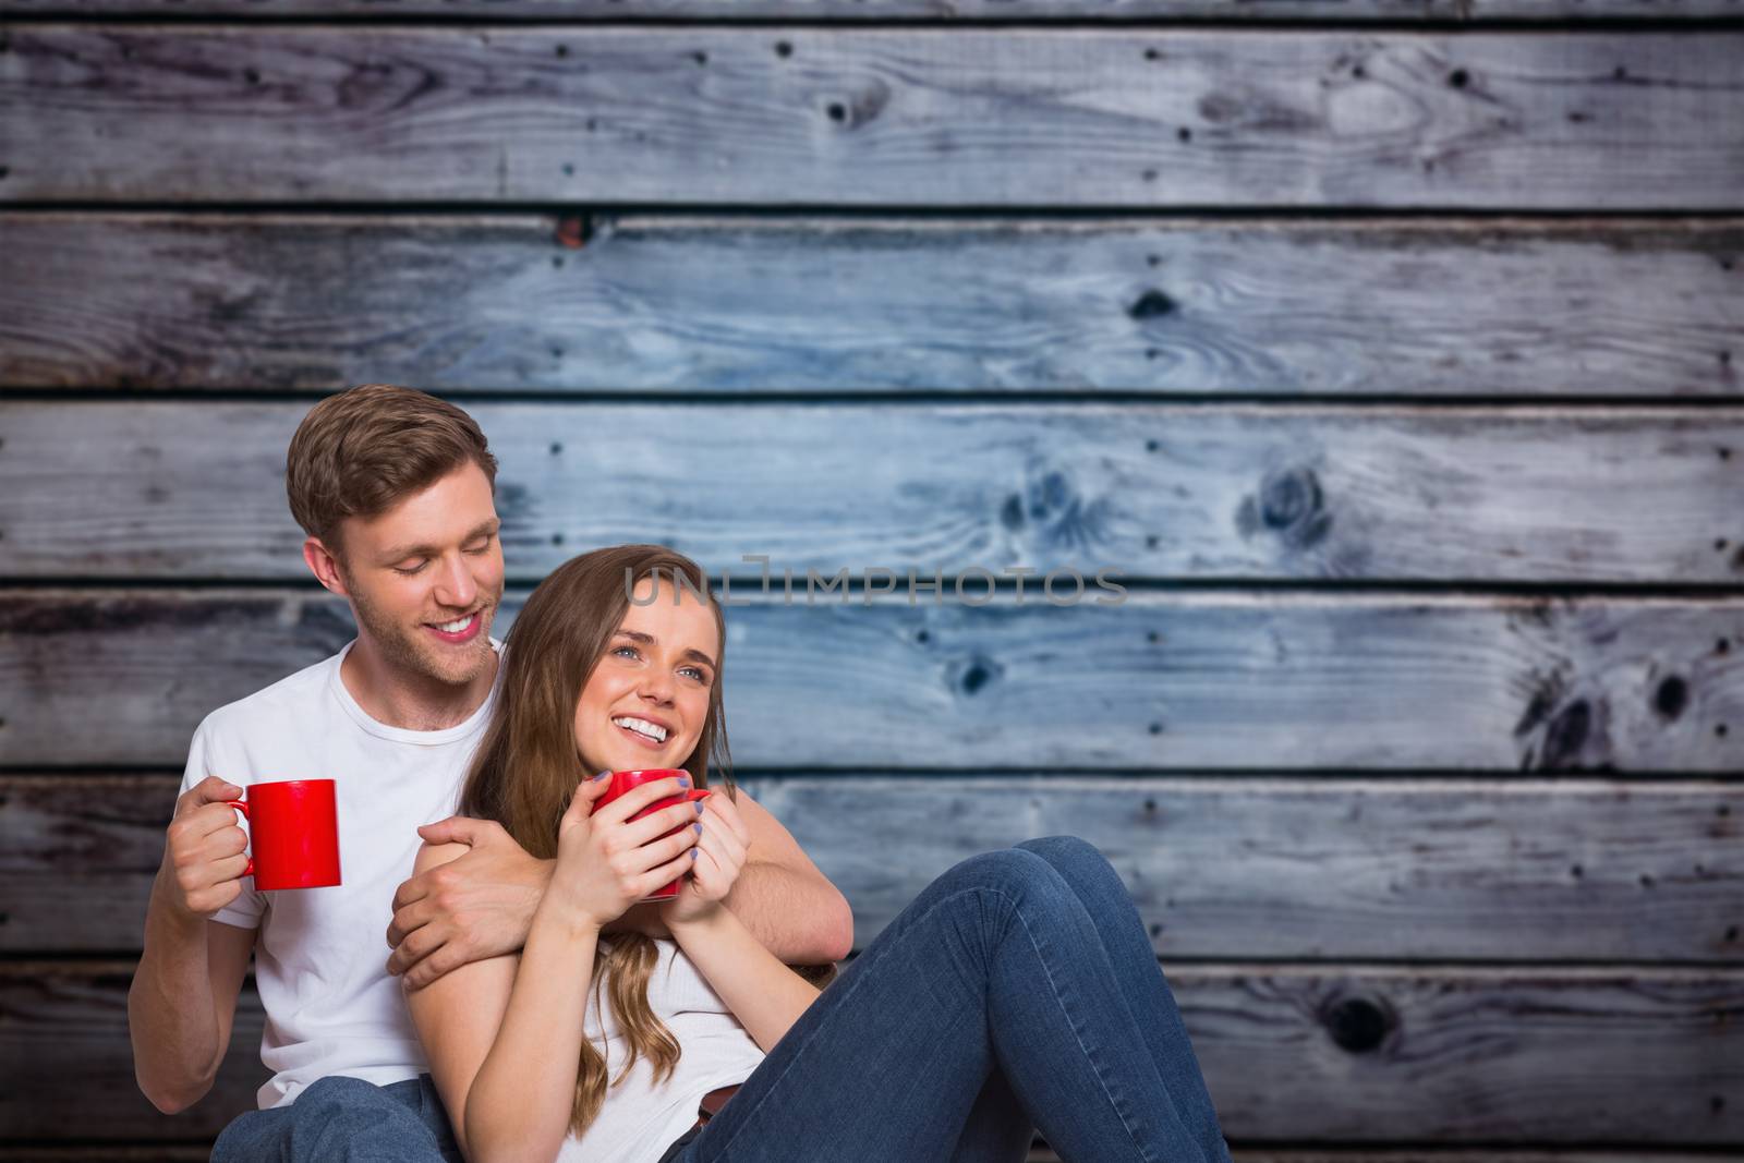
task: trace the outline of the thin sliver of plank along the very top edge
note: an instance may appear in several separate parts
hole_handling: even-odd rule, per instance
[[[1585,21],[1585,19],[1713,19],[1737,16],[1741,0],[5,0],[0,16],[221,16],[384,19],[446,16],[457,19],[562,21]]]

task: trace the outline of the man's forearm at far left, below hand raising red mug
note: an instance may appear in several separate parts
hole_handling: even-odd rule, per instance
[[[127,989],[127,1036],[140,1090],[174,1114],[206,1095],[218,1072],[218,1015],[208,973],[206,921],[178,922],[157,900],[146,910],[145,952]]]

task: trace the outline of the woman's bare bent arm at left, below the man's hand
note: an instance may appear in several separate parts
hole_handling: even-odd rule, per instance
[[[466,853],[424,847],[417,872]],[[520,956],[473,961],[406,994],[431,1078],[471,1163],[556,1158],[576,1102],[598,931],[535,910]]]

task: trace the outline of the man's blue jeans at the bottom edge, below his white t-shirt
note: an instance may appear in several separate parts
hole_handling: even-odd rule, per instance
[[[464,1163],[429,1074],[377,1086],[323,1078],[288,1107],[223,1128],[213,1163]]]

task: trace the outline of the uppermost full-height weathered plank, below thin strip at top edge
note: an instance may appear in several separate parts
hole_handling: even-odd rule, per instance
[[[9,201],[1744,207],[1737,31],[7,37]]]

